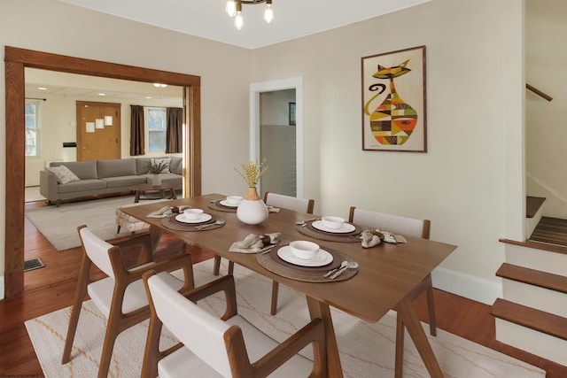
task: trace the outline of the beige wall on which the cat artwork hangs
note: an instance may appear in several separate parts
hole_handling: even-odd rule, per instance
[[[487,302],[500,289],[498,239],[518,232],[505,223],[522,212],[518,201],[511,215],[505,207],[506,127],[522,129],[521,59],[504,64],[521,52],[521,6],[434,0],[254,51],[252,81],[303,77],[306,197],[323,214],[347,216],[356,205],[430,219],[432,239],[459,246],[442,265],[450,272],[439,271],[462,286],[479,283],[467,295]],[[361,57],[419,45],[427,47],[428,152],[362,151]],[[518,123],[509,125],[507,117]],[[517,159],[509,164],[516,174],[522,166]],[[511,190],[521,201],[522,188]],[[468,290],[455,286],[444,289]]]

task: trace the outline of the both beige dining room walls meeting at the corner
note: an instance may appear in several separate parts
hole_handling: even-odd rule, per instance
[[[201,75],[204,192],[242,190],[232,166],[248,158],[249,84],[302,77],[305,197],[324,214],[357,205],[431,219],[432,239],[459,246],[436,284],[487,303],[499,295],[498,239],[523,232],[521,0],[433,0],[252,51],[53,1],[0,0],[0,17],[1,45]],[[158,54],[138,53],[146,43]],[[427,46],[428,152],[362,151],[361,57],[418,45]],[[2,214],[4,204],[4,245]]]

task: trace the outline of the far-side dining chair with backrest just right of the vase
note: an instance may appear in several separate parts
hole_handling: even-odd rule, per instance
[[[294,212],[307,212],[308,214],[313,214],[313,208],[315,206],[314,199],[305,199],[291,196],[284,196],[283,194],[276,194],[265,192],[264,193],[264,203],[270,206],[281,207],[283,209],[292,210]],[[221,257],[214,257],[214,275],[219,274],[221,267]],[[234,270],[234,263],[229,261],[229,274],[232,274]],[[270,313],[276,315],[277,312],[277,297],[279,292],[280,284],[279,282],[272,281],[272,302],[270,305]]]

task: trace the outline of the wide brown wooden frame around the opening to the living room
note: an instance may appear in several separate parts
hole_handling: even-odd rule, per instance
[[[162,82],[183,87],[186,140],[183,177],[186,196],[201,194],[200,76],[125,66],[48,52],[4,47],[5,63],[5,228],[4,297],[19,297],[24,289],[24,186],[26,177],[25,68],[77,73],[129,81]]]

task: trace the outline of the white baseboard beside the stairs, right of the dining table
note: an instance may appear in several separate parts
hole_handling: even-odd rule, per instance
[[[502,297],[501,282],[488,281],[444,267],[437,267],[431,273],[431,279],[433,287],[437,289],[448,291],[485,305],[493,305],[496,298]]]

